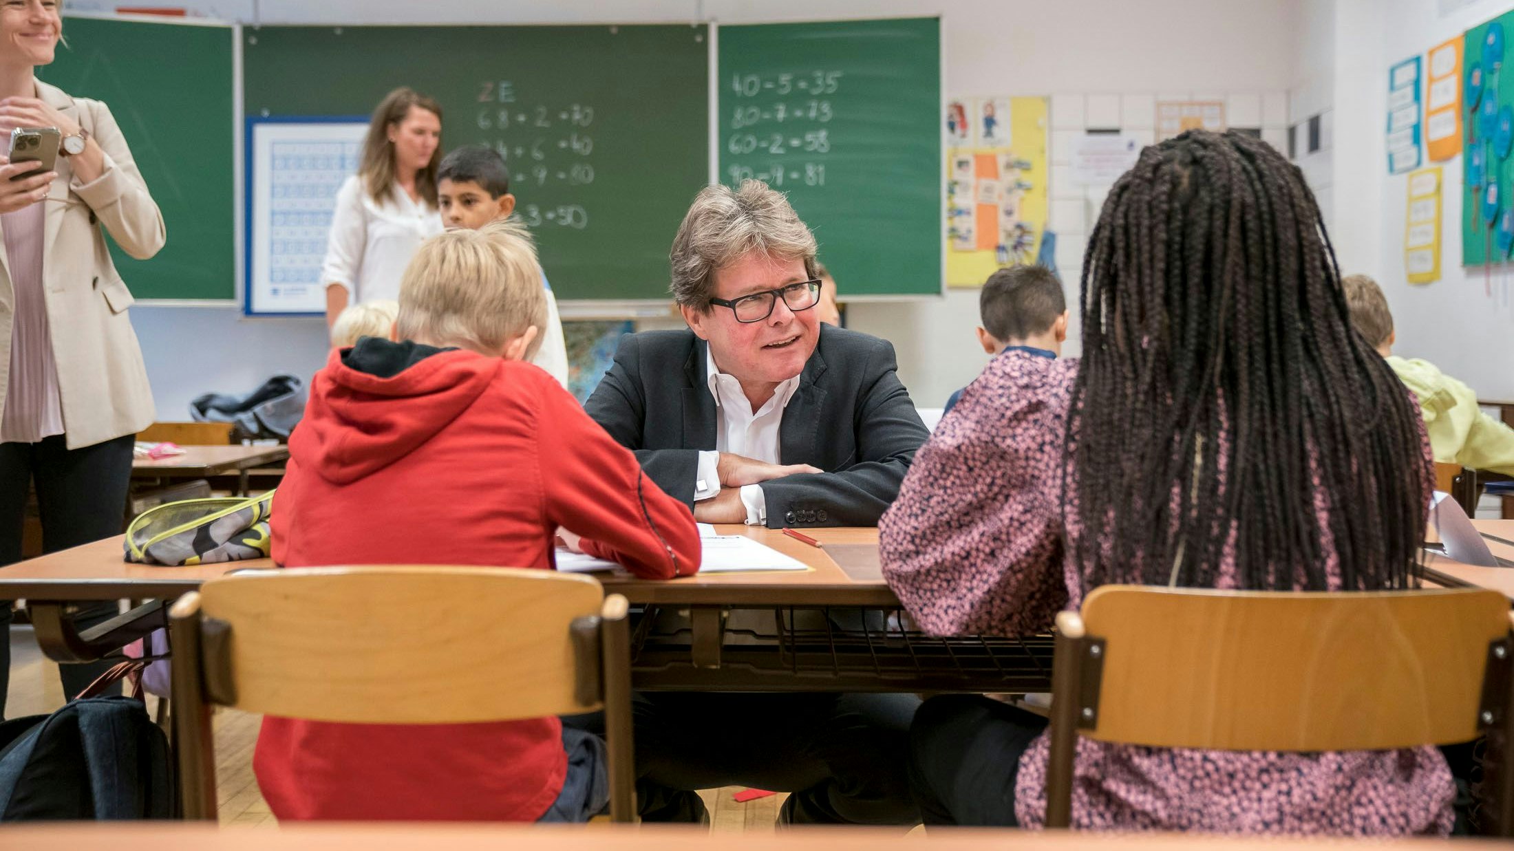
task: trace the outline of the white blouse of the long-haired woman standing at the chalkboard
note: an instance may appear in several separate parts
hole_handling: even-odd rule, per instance
[[[442,232],[442,214],[412,200],[398,185],[374,201],[356,174],[336,192],[332,233],[326,241],[322,283],[347,288],[351,304],[400,298],[400,277],[415,250]]]

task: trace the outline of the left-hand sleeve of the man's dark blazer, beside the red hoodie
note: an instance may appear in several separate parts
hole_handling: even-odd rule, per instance
[[[646,422],[646,388],[640,368],[640,341],[627,335],[615,351],[615,363],[604,374],[584,410],[615,442],[631,450],[646,475],[674,500],[693,509],[695,480],[699,472],[699,450],[650,450]],[[681,365],[674,365],[680,368]],[[680,412],[660,412],[678,416]],[[710,447],[715,448],[715,447]]]

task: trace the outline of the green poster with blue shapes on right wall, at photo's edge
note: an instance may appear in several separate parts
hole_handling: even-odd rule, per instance
[[[1505,195],[1514,145],[1514,80],[1503,80],[1503,36],[1514,26],[1508,12],[1472,27],[1461,41],[1461,262],[1482,267],[1508,260],[1514,218]]]

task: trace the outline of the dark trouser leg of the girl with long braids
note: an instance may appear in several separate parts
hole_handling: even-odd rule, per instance
[[[927,825],[1019,827],[1020,756],[1046,719],[977,695],[925,701],[910,728],[910,792]]]

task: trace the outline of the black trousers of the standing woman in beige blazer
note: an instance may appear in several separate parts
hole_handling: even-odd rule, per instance
[[[36,503],[42,515],[42,550],[55,553],[121,533],[126,491],[132,480],[133,435],[114,441],[67,448],[62,435],[36,444],[0,444],[0,566],[21,560],[21,524],[26,494],[36,482]],[[74,622],[92,627],[115,616],[115,603],[86,603]],[[0,716],[11,683],[11,601],[0,601]],[[59,665],[64,695],[73,698],[109,662]],[[106,694],[121,694],[120,684]]]

